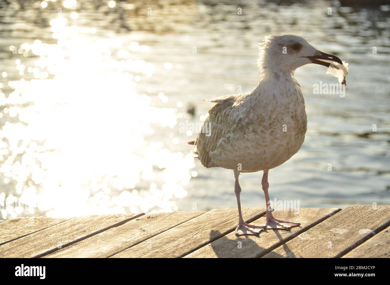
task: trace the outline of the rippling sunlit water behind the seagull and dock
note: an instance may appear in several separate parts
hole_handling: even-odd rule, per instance
[[[313,94],[337,83],[325,67],[296,71],[308,131],[269,172],[271,199],[390,204],[388,5],[45,3],[0,3],[3,219],[236,207],[232,171],[193,160],[196,134],[179,126],[204,120],[201,99],[254,88],[257,42],[275,33],[301,35],[350,69],[344,98]],[[241,176],[244,207],[264,207],[261,175]]]

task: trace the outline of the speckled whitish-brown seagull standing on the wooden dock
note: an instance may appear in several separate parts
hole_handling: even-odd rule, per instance
[[[268,194],[268,171],[289,160],[301,148],[307,130],[305,101],[294,78],[298,67],[316,63],[341,65],[334,55],[318,51],[297,35],[279,34],[259,44],[259,83],[248,93],[227,95],[204,102],[215,103],[208,111],[191,152],[207,168],[222,167],[234,172],[238,205],[236,235],[258,235],[261,230],[290,230],[300,226],[274,218]],[[204,130],[209,130],[204,132]],[[266,223],[245,222],[241,213],[239,175],[263,171]]]

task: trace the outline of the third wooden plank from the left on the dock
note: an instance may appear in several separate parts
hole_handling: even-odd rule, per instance
[[[144,215],[44,257],[109,257],[204,212]]]

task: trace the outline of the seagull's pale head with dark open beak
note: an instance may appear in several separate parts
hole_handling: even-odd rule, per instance
[[[290,74],[298,67],[316,63],[329,67],[330,62],[342,64],[340,58],[317,51],[303,37],[290,34],[270,35],[259,44],[260,70],[274,70]]]

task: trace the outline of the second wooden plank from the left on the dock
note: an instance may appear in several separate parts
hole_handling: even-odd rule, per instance
[[[141,214],[81,216],[0,245],[0,257],[40,257]]]

